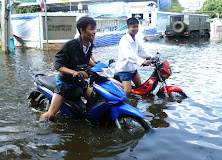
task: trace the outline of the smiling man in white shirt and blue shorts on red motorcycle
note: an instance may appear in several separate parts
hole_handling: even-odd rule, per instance
[[[136,18],[129,18],[127,20],[128,32],[119,42],[118,62],[115,69],[123,83],[126,95],[131,93],[131,81],[133,81],[136,87],[141,86],[141,79],[137,68],[141,65],[149,66],[151,63],[146,58],[153,57],[145,50],[136,37],[138,26],[139,21]]]

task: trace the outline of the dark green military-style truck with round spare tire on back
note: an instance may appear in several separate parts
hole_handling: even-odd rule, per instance
[[[167,37],[200,37],[210,38],[209,16],[201,14],[169,15],[166,23]]]

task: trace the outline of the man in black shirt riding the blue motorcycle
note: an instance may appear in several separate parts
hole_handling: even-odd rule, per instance
[[[41,115],[41,119],[52,119],[59,110],[61,104],[68,99],[84,96],[89,99],[91,89],[79,78],[87,79],[88,75],[84,71],[78,71],[77,65],[87,64],[94,66],[90,60],[92,56],[92,41],[95,39],[96,22],[90,17],[81,17],[77,21],[79,38],[66,42],[61,50],[55,55],[54,67],[59,71],[56,78],[56,88],[52,97],[49,110]],[[77,78],[78,77],[78,78]]]

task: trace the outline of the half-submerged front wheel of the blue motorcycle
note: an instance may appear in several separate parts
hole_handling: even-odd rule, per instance
[[[141,118],[132,115],[120,115],[118,118],[118,127],[129,133],[149,132],[151,130],[147,122]]]

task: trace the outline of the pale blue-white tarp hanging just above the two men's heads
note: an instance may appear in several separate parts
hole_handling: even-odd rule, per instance
[[[92,18],[129,17],[130,16],[130,9],[124,4],[125,4],[124,2],[89,4],[88,5],[89,16]]]

